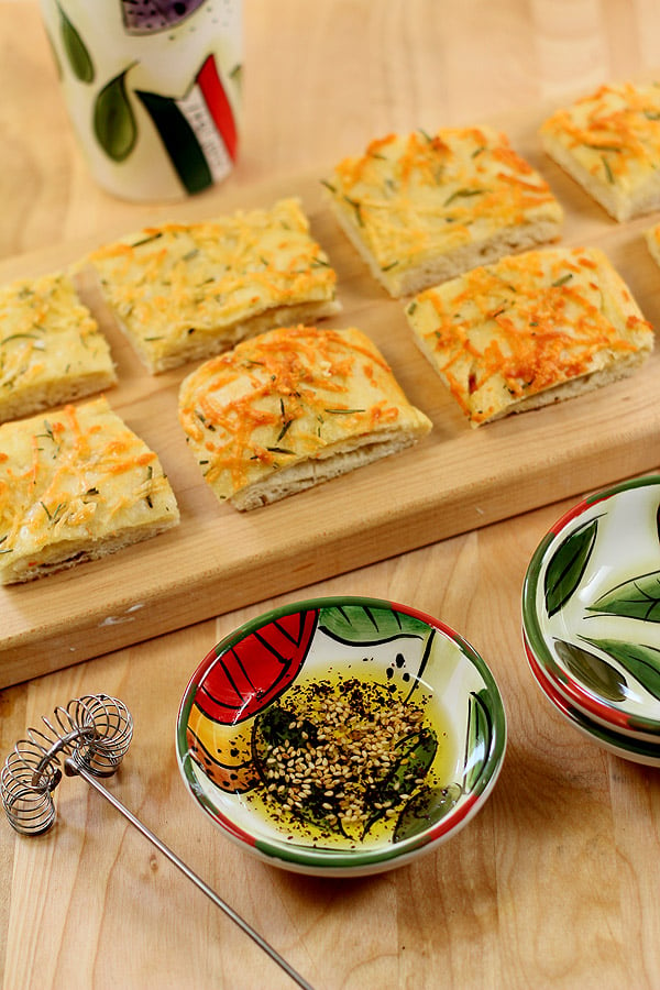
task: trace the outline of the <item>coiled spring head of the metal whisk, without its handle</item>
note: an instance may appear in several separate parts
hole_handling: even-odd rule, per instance
[[[62,758],[95,777],[110,777],[133,736],[131,713],[107,694],[73,698],[42,723],[19,739],[0,771],[7,817],[24,835],[40,835],[55,822],[53,791],[62,780]]]

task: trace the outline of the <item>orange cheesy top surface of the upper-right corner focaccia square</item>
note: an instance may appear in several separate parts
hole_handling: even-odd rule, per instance
[[[635,193],[660,160],[660,85],[601,86],[557,110],[540,129],[593,178]]]

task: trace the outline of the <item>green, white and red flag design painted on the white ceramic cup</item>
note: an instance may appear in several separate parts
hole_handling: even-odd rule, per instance
[[[200,193],[223,179],[237,156],[237,125],[209,55],[195,82],[179,99],[136,90],[187,193]]]

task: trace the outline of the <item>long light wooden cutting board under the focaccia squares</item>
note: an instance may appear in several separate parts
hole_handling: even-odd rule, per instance
[[[660,328],[660,270],[642,233],[649,217],[610,220],[539,151],[542,117],[504,124],[514,146],[550,182],[565,209],[563,242],[603,248],[645,316]],[[331,163],[330,163],[331,164]],[[632,378],[558,406],[472,430],[413,343],[403,304],[389,299],[338,230],[320,175],[220,187],[167,209],[138,209],[135,228],[197,220],[297,195],[339,278],[343,312],[328,326],[373,337],[409,399],[433,421],[417,448],[284,502],[241,515],[207,490],[177,420],[189,367],[153,377],[103,322],[120,384],[112,407],[155,451],[176,493],[176,530],[31,584],[0,588],[0,686],[221,615],[311,582],[485,526],[660,463],[660,349]],[[101,241],[66,243],[0,264],[0,282],[47,272]],[[539,538],[542,534],[539,534]],[[442,575],[439,575],[442,580]]]

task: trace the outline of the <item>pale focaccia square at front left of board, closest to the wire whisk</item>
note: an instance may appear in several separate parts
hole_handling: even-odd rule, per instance
[[[105,397],[0,426],[0,583],[113,553],[179,521],[156,454]]]

